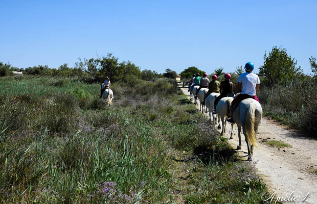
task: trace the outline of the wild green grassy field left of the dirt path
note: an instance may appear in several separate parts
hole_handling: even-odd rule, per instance
[[[168,80],[0,81],[2,203],[263,203],[265,184]]]

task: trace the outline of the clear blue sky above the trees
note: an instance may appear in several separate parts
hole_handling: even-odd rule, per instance
[[[233,72],[283,46],[311,73],[317,58],[317,1],[0,0],[0,62],[74,67],[114,54],[141,70]]]

